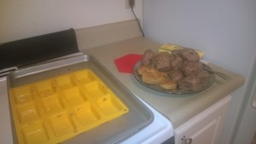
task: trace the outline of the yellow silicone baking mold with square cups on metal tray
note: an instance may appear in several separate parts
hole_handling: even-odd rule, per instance
[[[20,144],[53,144],[129,112],[90,69],[9,89]]]

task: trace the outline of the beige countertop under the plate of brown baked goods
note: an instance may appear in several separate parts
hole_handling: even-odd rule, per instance
[[[144,37],[131,37],[119,42],[96,46],[93,49],[81,49],[81,51],[84,54],[94,55],[128,89],[131,89],[136,95],[148,102],[149,105],[169,118],[174,128],[193,118],[196,114],[207,109],[207,107],[212,106],[212,104],[226,95],[230,95],[241,87],[244,82],[244,78],[240,74],[224,70],[209,63],[213,70],[224,72],[231,79],[226,81],[216,76],[214,84],[201,92],[186,95],[166,94],[148,89],[148,87],[137,82],[132,74],[119,72],[113,62],[113,60],[128,54],[143,55],[146,49],[152,49],[156,52],[159,46],[159,43],[154,43]]]

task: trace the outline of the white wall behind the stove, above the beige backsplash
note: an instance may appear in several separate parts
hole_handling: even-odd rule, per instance
[[[135,4],[142,19],[143,0]],[[133,18],[125,0],[1,0],[0,43]]]

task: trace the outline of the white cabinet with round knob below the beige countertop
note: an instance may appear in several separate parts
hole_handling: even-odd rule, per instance
[[[176,144],[217,144],[231,96],[224,97],[212,107],[175,129]]]

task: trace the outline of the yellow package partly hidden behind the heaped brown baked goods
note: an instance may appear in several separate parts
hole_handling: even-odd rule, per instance
[[[183,47],[172,44],[172,43],[165,43],[163,45],[160,46],[160,48],[158,49],[159,52],[164,52],[167,51],[170,54],[172,53],[172,50],[175,49],[183,49]],[[202,58],[205,55],[205,52],[201,51],[201,50],[196,50],[196,53],[200,56],[200,58]]]

